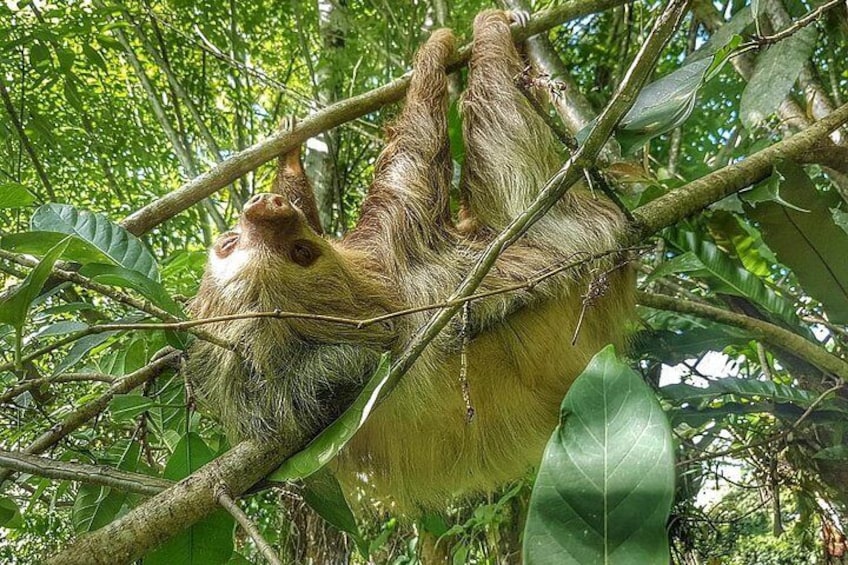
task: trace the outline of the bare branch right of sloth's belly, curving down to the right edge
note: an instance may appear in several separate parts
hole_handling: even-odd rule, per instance
[[[843,381],[848,381],[848,363],[835,355],[831,355],[821,346],[780,326],[709,304],[681,300],[680,298],[663,294],[639,292],[636,295],[636,300],[643,306],[649,306],[658,310],[670,310],[681,314],[692,314],[748,330],[757,339],[761,339],[779,349],[791,351],[794,355],[812,363],[822,371],[839,377]]]

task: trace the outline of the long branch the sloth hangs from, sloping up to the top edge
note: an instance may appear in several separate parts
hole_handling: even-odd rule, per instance
[[[572,0],[562,6],[537,13],[527,26],[514,28],[513,34],[516,39],[523,40],[568,20],[588,16],[623,3],[624,0]],[[470,46],[463,47],[450,69],[456,70],[465,65],[470,54]],[[384,86],[342,100],[307,116],[292,130],[277,132],[221,161],[177,190],[133,213],[124,219],[121,225],[135,235],[150,231],[242,175],[305,143],[310,137],[374,112],[386,104],[397,102],[403,98],[409,78],[410,75],[404,75]]]

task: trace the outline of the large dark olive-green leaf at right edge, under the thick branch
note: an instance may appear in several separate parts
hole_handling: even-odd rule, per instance
[[[763,238],[780,262],[792,269],[811,296],[822,303],[831,322],[848,323],[848,233],[830,211],[841,202],[835,192],[816,190],[807,173],[791,162],[774,172],[779,194],[792,207],[760,201],[747,208],[760,223]]]

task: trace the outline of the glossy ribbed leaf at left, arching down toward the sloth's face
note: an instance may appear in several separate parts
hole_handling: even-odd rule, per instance
[[[159,280],[156,260],[137,237],[101,214],[67,204],[45,204],[32,216],[32,229],[79,237],[99,249],[116,265]]]

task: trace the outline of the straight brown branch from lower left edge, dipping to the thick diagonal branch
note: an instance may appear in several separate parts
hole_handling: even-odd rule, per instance
[[[159,494],[174,484],[173,481],[141,473],[129,473],[102,465],[68,463],[4,449],[0,449],[0,468],[18,473],[29,473],[37,477],[100,485],[145,496]]]

